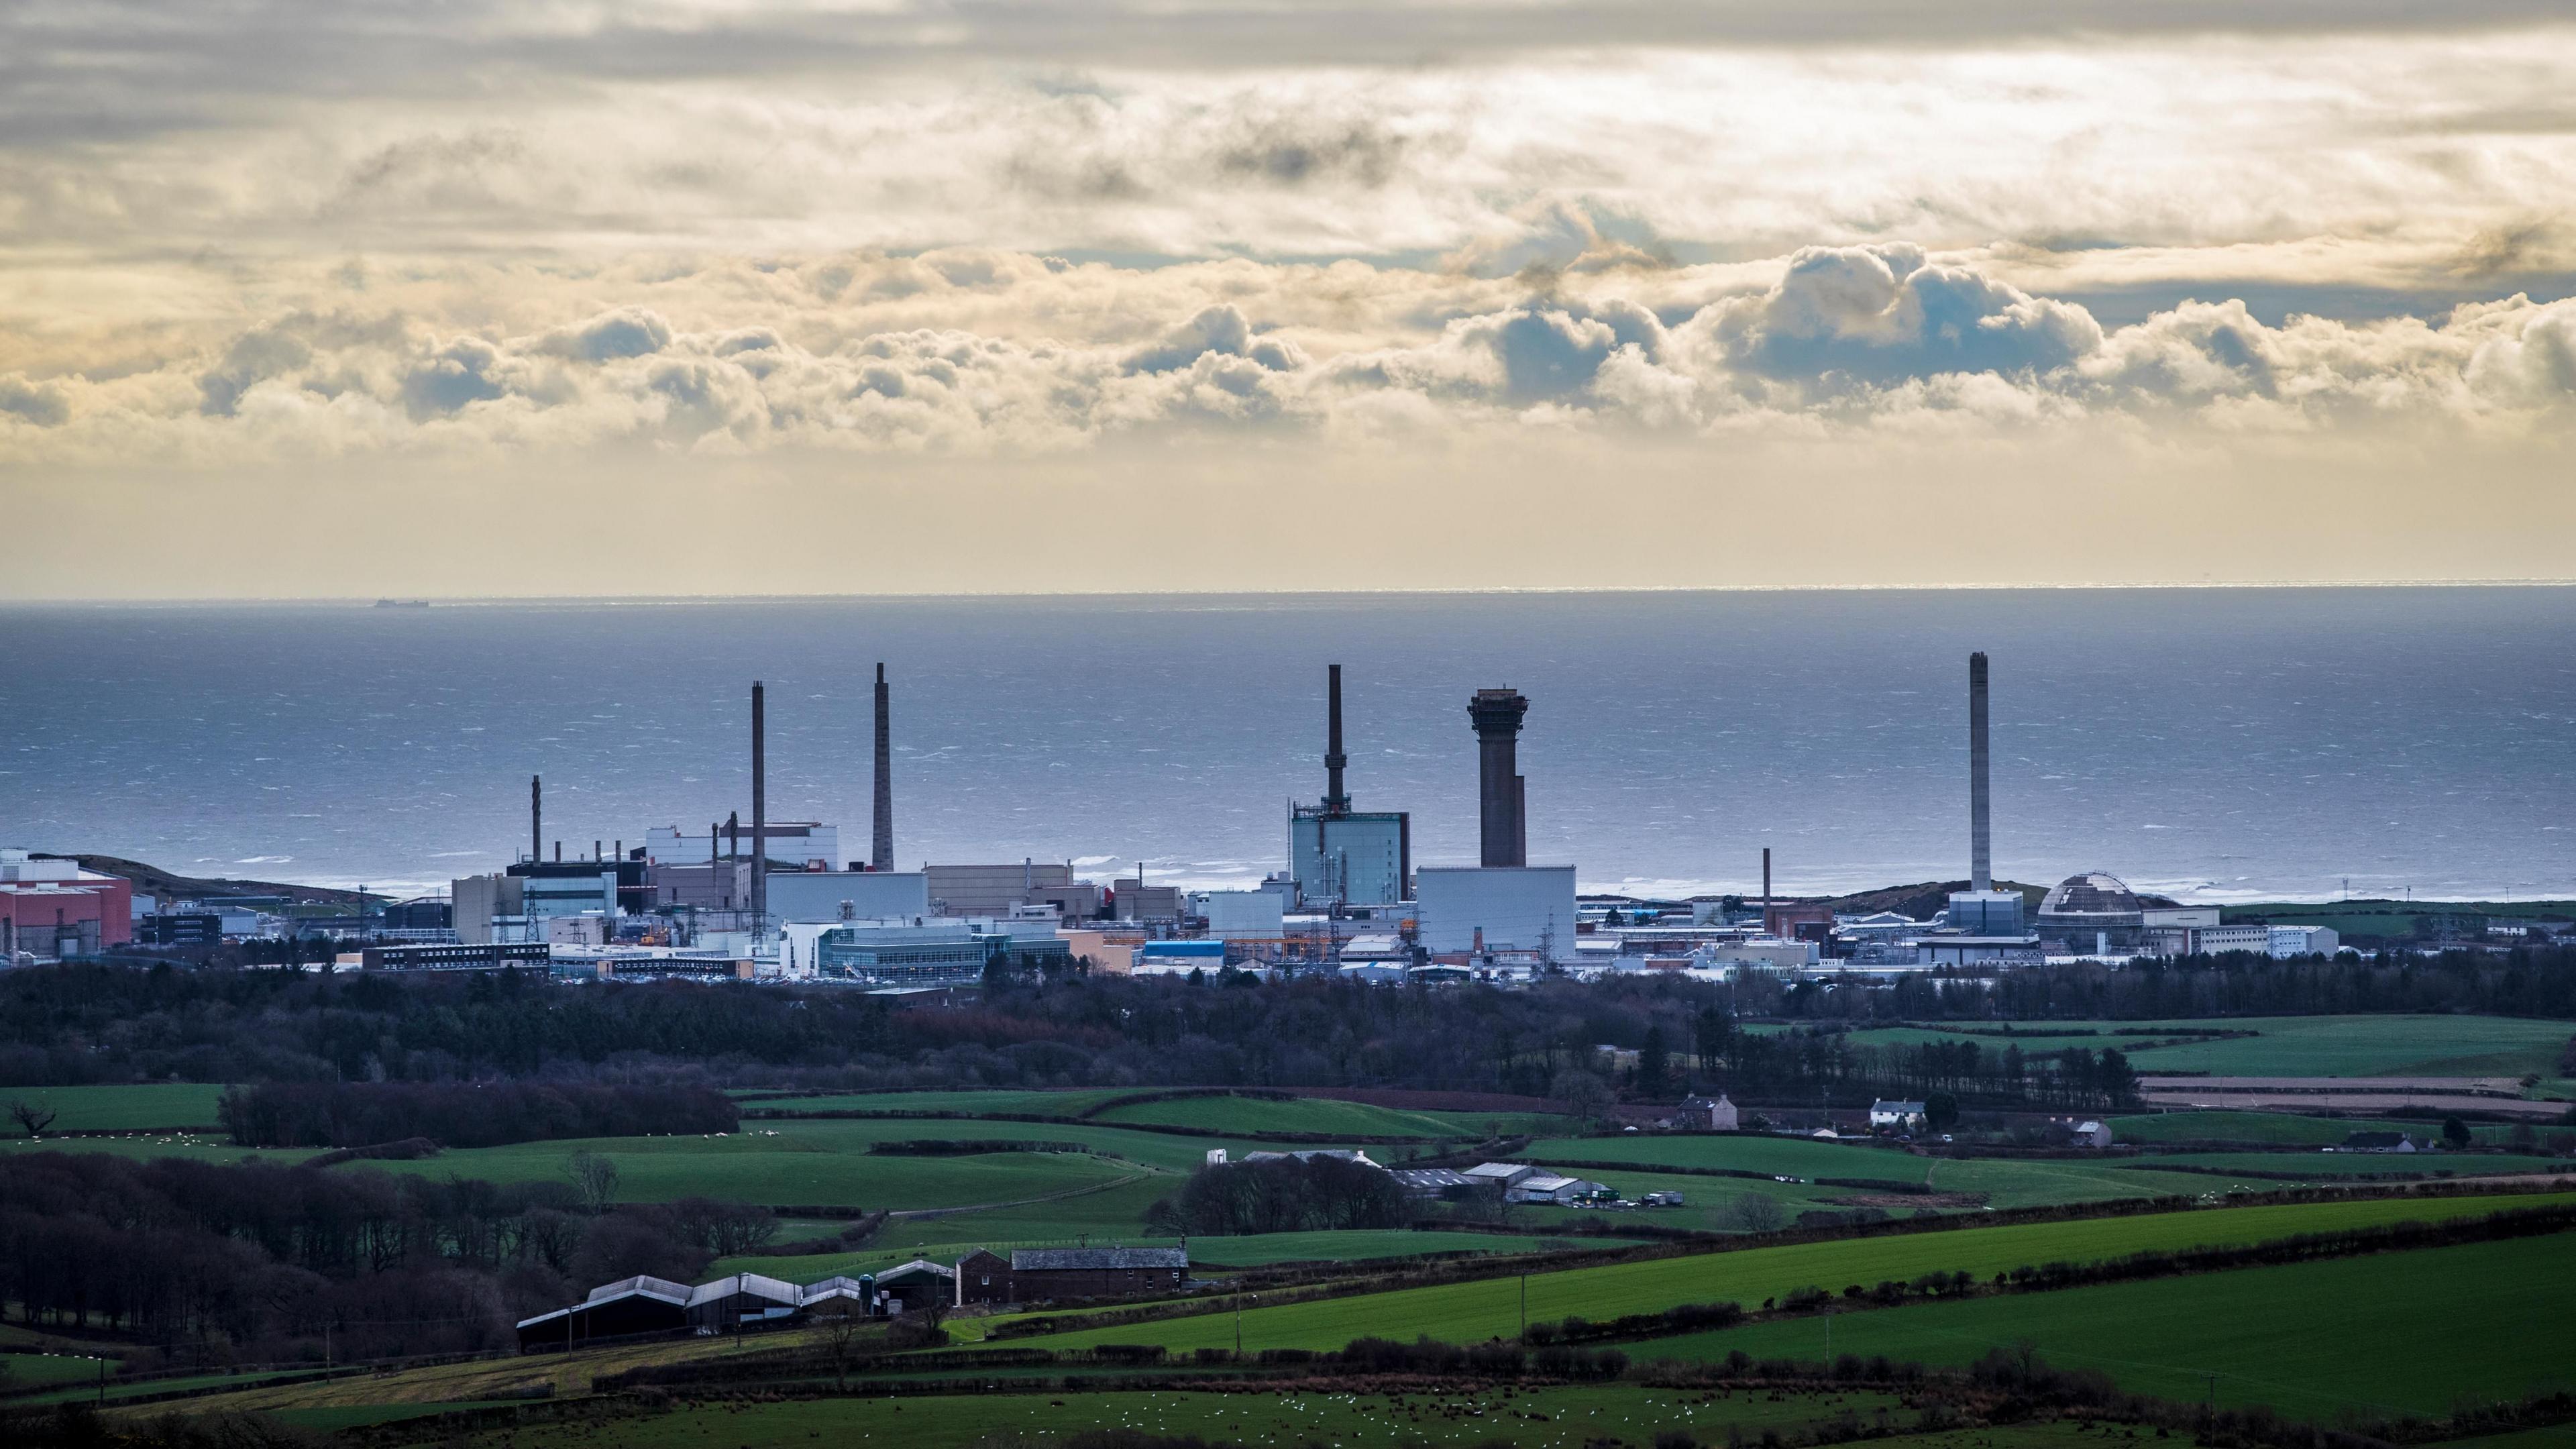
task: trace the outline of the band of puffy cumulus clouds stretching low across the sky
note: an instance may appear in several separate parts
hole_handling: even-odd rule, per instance
[[[2517,294],[2437,320],[2264,322],[2226,299],[2105,327],[2079,304],[1893,242],[1543,284],[925,253],[654,268],[587,286],[626,297],[544,317],[549,289],[510,299],[459,281],[389,294],[376,312],[317,294],[152,366],[0,374],[0,415],[18,423],[0,431],[0,462],[603,441],[1046,456],[1206,431],[2576,423],[2576,302]],[[523,320],[469,317],[497,302]],[[82,351],[77,338],[62,348]]]

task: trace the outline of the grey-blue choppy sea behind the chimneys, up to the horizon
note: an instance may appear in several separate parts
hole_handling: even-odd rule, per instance
[[[1530,696],[1533,864],[1584,890],[1968,871],[1968,652],[1994,864],[2179,900],[2576,895],[2576,588],[1332,593],[0,608],[0,846],[433,892],[528,841],[775,820],[896,861],[1252,884],[1324,794],[1476,859],[1484,686]]]

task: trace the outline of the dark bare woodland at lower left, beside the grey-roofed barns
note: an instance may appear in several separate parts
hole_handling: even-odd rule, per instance
[[[685,1281],[775,1227],[708,1199],[585,1212],[572,1181],[28,1152],[0,1158],[0,1310],[155,1346],[129,1369],[479,1351],[590,1284]]]

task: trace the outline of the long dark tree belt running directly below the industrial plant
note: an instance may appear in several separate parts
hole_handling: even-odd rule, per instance
[[[2259,957],[2050,964],[1996,980],[1909,975],[1893,987],[1747,977],[1618,977],[1535,990],[1386,990],[1340,980],[1193,987],[1177,980],[994,982],[963,1008],[904,1011],[835,990],[683,982],[564,987],[536,972],[353,980],[278,969],[67,964],[0,975],[0,1088],[90,1080],[703,1080],[822,1091],[963,1085],[1404,1085],[1595,1096],[1600,1047],[1649,1098],[1698,1088],[1919,1096],[2035,1106],[2117,1101],[2102,1052],[2025,1060],[2004,1047],[1832,1042],[1886,1021],[2166,1021],[2308,1011],[2491,1011],[2576,1018],[2576,949],[2272,962]],[[1716,1013],[1716,1016],[1710,1016]],[[1723,1039],[1739,1018],[1816,1029]],[[1710,1031],[1710,1024],[1718,1031]],[[1587,1088],[1592,1083],[1592,1088]],[[384,1127],[386,1137],[410,1129]],[[363,1132],[361,1132],[363,1134]],[[430,1132],[433,1137],[438,1132]]]

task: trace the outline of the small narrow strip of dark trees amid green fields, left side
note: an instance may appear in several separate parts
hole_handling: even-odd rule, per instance
[[[404,1137],[500,1147],[742,1124],[721,1091],[639,1083],[255,1083],[224,1091],[216,1114],[242,1147],[366,1147]]]

